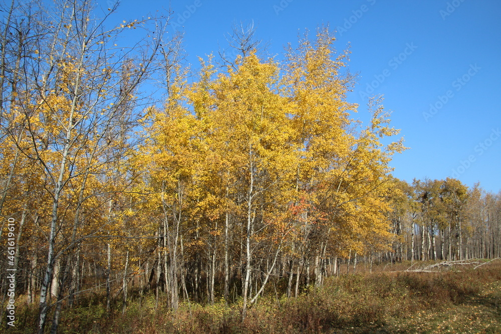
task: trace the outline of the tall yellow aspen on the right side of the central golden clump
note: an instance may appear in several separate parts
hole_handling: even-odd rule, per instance
[[[370,205],[384,196],[391,154],[403,149],[401,141],[387,146],[380,143],[380,138],[398,133],[388,126],[381,100],[370,102],[373,115],[366,129],[358,129],[359,124],[350,118],[358,106],[346,101],[353,77],[341,70],[348,52],[338,54],[333,43],[334,37],[325,27],[317,31],[313,42],[306,35],[296,50],[289,49],[284,76],[296,107],[292,112],[296,138],[303,147],[299,189],[308,193],[317,216],[312,217],[315,228],[308,238],[315,244],[319,280],[321,262],[329,248],[337,255],[346,255],[352,244],[360,253],[363,240],[351,236],[362,235],[362,230],[388,236],[383,215],[364,213],[363,208],[370,212]]]

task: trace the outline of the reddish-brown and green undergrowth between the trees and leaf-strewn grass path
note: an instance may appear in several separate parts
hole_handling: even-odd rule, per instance
[[[387,272],[327,278],[297,298],[268,296],[248,309],[241,321],[241,301],[226,305],[180,303],[176,313],[165,306],[155,310],[153,295],[132,301],[124,314],[117,302],[111,313],[96,297],[65,309],[60,332],[76,333],[294,333],[332,328],[373,328],[392,318],[419,310],[459,303],[478,293],[484,284],[501,280],[501,263],[464,271],[439,273]],[[277,284],[280,285],[280,284]],[[162,303],[163,304],[163,303]],[[19,306],[23,309],[23,306]],[[32,309],[33,308],[33,309]],[[18,309],[25,323],[13,332],[35,328],[35,308]]]

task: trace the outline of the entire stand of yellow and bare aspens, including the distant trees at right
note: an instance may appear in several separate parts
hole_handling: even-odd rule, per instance
[[[193,73],[170,13],[116,24],[88,0],[18,5],[0,31],[0,276],[5,300],[15,221],[15,291],[39,304],[40,333],[90,293],[122,311],[131,294],[241,300],[245,317],[277,282],[297,296],[340,261],[499,256],[499,195],[391,177],[398,130],[381,98],[354,118],[328,28],[280,58],[235,29]]]

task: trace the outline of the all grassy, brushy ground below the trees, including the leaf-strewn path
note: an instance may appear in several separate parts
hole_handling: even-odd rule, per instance
[[[501,333],[501,261],[432,273],[397,268],[331,277],[298,298],[277,298],[280,282],[271,283],[270,294],[248,310],[243,322],[241,301],[181,303],[174,313],[165,306],[155,310],[150,294],[130,301],[122,314],[120,303],[108,313],[103,296],[95,295],[79,307],[64,309],[59,332]],[[36,313],[36,305],[18,305],[17,326],[10,332],[34,332]]]

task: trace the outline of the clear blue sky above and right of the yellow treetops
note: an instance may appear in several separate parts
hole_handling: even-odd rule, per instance
[[[392,125],[410,148],[391,162],[394,176],[409,182],[455,177],[501,189],[501,1],[188,0],[170,6],[195,66],[197,56],[226,46],[224,34],[234,22],[253,20],[271,55],[305,29],[329,24],[338,31],[338,50],[351,45],[350,71],[360,73],[348,97],[360,105],[355,117],[368,119],[366,93],[383,94]],[[169,2],[124,0],[117,18],[162,8]]]

